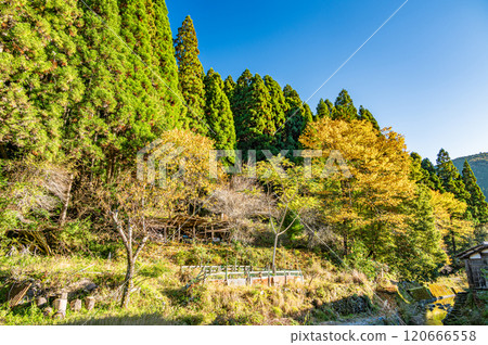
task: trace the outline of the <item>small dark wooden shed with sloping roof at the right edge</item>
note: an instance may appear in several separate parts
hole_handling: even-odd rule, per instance
[[[470,289],[488,290],[487,277],[481,271],[488,271],[488,242],[471,247],[457,257],[464,259]]]

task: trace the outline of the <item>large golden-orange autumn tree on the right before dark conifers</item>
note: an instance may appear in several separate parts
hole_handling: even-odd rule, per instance
[[[375,243],[388,237],[384,231],[403,228],[406,215],[399,207],[414,195],[414,183],[402,136],[390,129],[378,133],[368,122],[322,118],[307,127],[300,142],[306,149],[322,150],[314,169],[322,169],[325,159],[338,152],[350,171],[348,177],[335,169],[318,183],[324,215],[341,229],[346,252],[348,234],[360,232]]]

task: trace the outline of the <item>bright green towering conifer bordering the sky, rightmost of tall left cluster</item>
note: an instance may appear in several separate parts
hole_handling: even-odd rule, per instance
[[[165,2],[120,0],[118,5],[120,34],[130,50],[125,54],[129,71],[121,75],[130,92],[125,100],[133,110],[127,119],[116,119],[118,128],[127,130],[126,138],[130,139],[134,154],[176,126],[181,114],[181,95],[176,88],[177,65]]]

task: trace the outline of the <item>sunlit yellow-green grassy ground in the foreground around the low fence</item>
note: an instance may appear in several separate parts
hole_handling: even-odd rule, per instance
[[[306,282],[280,288],[197,285],[181,286],[189,279],[179,265],[204,261],[209,265],[233,263],[264,266],[269,248],[229,248],[217,245],[151,245],[141,257],[128,310],[118,308],[118,286],[124,280],[125,259],[86,257],[15,256],[0,258],[0,279],[34,278],[44,288],[62,288],[90,279],[100,288],[93,311],[73,315],[67,311],[61,323],[88,324],[310,324],[347,319],[352,315],[387,314],[371,304],[372,283],[358,272],[337,269],[317,254],[280,248],[279,263],[284,267],[308,267]],[[2,278],[3,277],[3,278]],[[312,279],[312,277],[314,277]],[[0,281],[1,282],[1,281]],[[1,286],[1,285],[0,285]],[[0,290],[4,301],[5,288]],[[395,297],[393,304],[395,304]],[[391,299],[390,298],[390,299]],[[388,316],[385,315],[387,318]],[[0,307],[0,324],[52,324],[41,310],[29,304],[10,311]]]

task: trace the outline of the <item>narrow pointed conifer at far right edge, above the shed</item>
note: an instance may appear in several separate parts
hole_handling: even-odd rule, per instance
[[[488,222],[488,203],[467,159],[464,159],[463,165],[463,182],[470,193],[470,197],[466,200],[467,209],[480,223]]]

